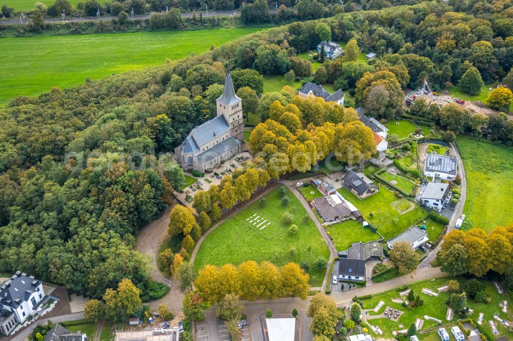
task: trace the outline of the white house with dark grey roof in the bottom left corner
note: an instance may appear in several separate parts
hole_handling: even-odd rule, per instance
[[[33,316],[44,296],[42,281],[16,271],[0,285],[0,332],[9,335],[18,323]]]

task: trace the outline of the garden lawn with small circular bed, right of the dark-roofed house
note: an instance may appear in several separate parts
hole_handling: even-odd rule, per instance
[[[411,203],[415,205],[415,208],[401,215],[398,210],[392,207],[392,203],[399,199],[384,186],[380,187],[378,193],[363,200],[360,200],[343,187],[339,188],[338,191],[358,208],[365,220],[378,228],[378,232],[386,240],[397,236],[406,228],[427,216],[427,211],[415,203]],[[397,224],[393,222],[395,218],[398,219]]]

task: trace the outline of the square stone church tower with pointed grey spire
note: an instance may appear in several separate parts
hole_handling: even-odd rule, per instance
[[[244,139],[244,118],[242,99],[235,95],[230,69],[226,67],[226,79],[223,95],[216,100],[218,116],[223,115],[230,125],[230,136],[242,142]]]

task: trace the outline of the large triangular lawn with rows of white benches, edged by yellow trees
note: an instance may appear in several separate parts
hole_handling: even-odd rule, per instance
[[[213,230],[198,250],[194,267],[201,269],[207,264],[221,266],[227,263],[239,265],[248,260],[257,263],[269,261],[283,266],[289,262],[311,263],[319,256],[328,259],[328,247],[313,221],[308,219],[307,223],[303,222],[303,218],[307,216],[303,205],[290,191],[287,196],[290,203],[287,207],[283,207],[282,197],[276,188],[265,196],[267,200],[265,207],[255,202]],[[295,236],[289,235],[288,225],[282,223],[282,216],[286,211],[293,213],[293,223],[299,226],[299,233]],[[254,214],[268,220],[271,225],[261,231],[262,226],[257,228],[256,225],[246,221]],[[290,256],[291,247],[297,250],[295,257]],[[324,271],[310,269],[310,284],[320,286],[324,273]]]

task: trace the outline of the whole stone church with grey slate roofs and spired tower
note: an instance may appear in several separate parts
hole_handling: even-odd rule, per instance
[[[180,146],[175,157],[184,171],[205,173],[221,161],[241,152],[244,136],[242,99],[235,95],[230,70],[226,69],[223,95],[216,100],[217,116],[196,126]]]

